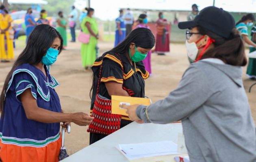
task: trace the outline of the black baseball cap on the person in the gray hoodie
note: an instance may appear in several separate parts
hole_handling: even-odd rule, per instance
[[[192,21],[178,23],[180,29],[189,29],[195,26],[201,26],[223,38],[229,38],[232,29],[235,28],[235,21],[227,11],[210,6],[202,9]]]

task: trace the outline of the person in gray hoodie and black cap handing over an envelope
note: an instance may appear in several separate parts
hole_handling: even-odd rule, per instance
[[[125,106],[138,123],[182,121],[191,162],[256,162],[256,130],[243,87],[243,41],[230,13],[203,9],[186,32],[191,65],[169,96],[146,107]]]

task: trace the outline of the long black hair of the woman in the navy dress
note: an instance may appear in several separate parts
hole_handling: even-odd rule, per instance
[[[30,33],[25,49],[14,62],[11,71],[8,73],[4,81],[4,87],[0,94],[0,112],[2,112],[2,114],[4,113],[4,99],[7,85],[11,80],[14,70],[17,68],[17,66],[22,64],[36,65],[41,62],[43,55],[45,55],[46,51],[52,46],[55,38],[59,38],[61,40],[61,45],[58,49],[59,53],[61,53],[63,49],[63,38],[61,37],[61,34],[59,34],[59,32],[53,27],[46,24],[41,24],[36,26],[35,29]]]

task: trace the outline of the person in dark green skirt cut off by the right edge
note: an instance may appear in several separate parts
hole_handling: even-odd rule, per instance
[[[252,27],[251,36],[253,43],[256,43],[256,24]],[[256,51],[254,46],[250,45],[250,53]],[[256,79],[256,59],[249,58],[246,75],[251,79]]]

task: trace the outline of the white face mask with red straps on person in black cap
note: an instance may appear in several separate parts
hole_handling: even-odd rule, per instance
[[[199,40],[197,40],[196,42],[192,42],[189,43],[188,40],[186,40],[186,47],[187,47],[187,55],[189,58],[189,63],[192,64],[194,62],[197,62],[198,60],[200,60],[202,58],[202,55],[204,54],[204,52],[206,51],[206,49],[213,43],[215,42],[215,40],[213,40],[212,38],[209,37],[206,45],[197,48],[196,44],[202,40],[204,38],[204,36],[202,36]],[[200,55],[198,56],[198,58],[196,58],[197,53],[198,53],[198,49],[204,48],[202,50],[202,52],[200,53]]]

